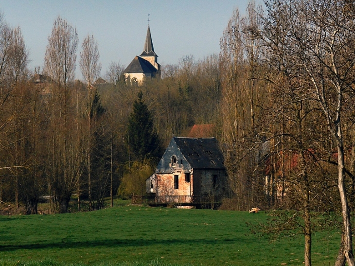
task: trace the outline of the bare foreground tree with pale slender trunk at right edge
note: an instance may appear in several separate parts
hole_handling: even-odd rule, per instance
[[[344,127],[354,126],[351,115],[354,111],[354,3],[346,0],[270,0],[265,3],[268,10],[265,34],[276,69],[309,88],[308,94],[302,95],[303,100],[318,105],[328,137],[334,143],[345,232],[342,249],[348,265],[354,266],[345,175],[345,153],[351,150],[351,143],[344,142],[343,138]]]

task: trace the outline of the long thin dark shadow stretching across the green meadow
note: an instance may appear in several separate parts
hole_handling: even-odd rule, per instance
[[[106,240],[90,240],[90,241],[70,241],[62,240],[59,243],[33,243],[33,244],[13,244],[13,245],[1,245],[0,251],[12,251],[17,249],[45,249],[45,248],[93,248],[93,247],[106,247],[113,248],[117,246],[125,247],[144,247],[152,245],[220,245],[220,244],[235,244],[240,243],[244,240],[240,239],[218,239],[218,240],[209,240],[209,239],[106,239]]]

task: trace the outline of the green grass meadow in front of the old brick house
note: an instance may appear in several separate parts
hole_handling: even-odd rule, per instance
[[[302,265],[302,237],[269,243],[249,233],[246,221],[265,219],[263,212],[128,205],[0,216],[0,265]],[[338,245],[338,234],[316,233],[313,265],[334,264]]]

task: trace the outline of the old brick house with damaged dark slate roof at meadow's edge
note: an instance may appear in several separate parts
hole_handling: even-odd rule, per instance
[[[227,173],[216,139],[174,137],[146,185],[156,203],[217,200],[226,190]]]

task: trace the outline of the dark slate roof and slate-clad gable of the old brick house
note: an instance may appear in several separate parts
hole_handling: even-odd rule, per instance
[[[171,173],[171,160],[175,156],[177,167],[184,172],[195,169],[224,169],[223,154],[215,138],[174,137],[161,158],[157,172]],[[182,163],[181,163],[182,162]]]

